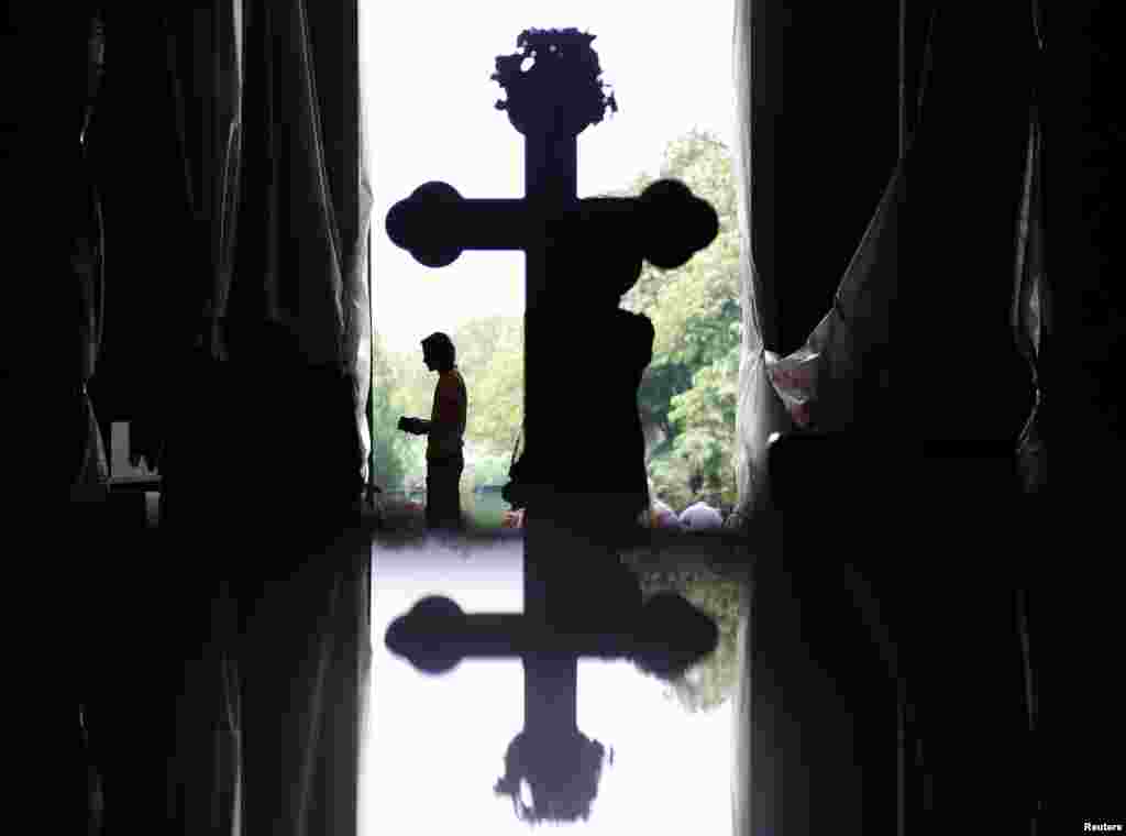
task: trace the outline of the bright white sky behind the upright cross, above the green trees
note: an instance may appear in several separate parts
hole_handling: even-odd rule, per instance
[[[524,194],[522,137],[493,108],[497,55],[526,28],[577,27],[593,43],[619,112],[579,136],[579,192],[656,171],[665,144],[698,126],[731,144],[732,0],[408,0],[361,3],[361,62],[373,163],[375,323],[388,346],[418,348],[465,319],[524,311],[524,256],[465,252],[431,270],[387,239],[396,201],[428,180],[465,197]]]

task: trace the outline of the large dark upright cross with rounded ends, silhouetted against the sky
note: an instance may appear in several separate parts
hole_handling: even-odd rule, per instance
[[[605,240],[611,229],[620,247],[665,269],[712,242],[718,231],[715,210],[676,180],[659,180],[640,197],[579,199],[578,135],[600,122],[607,107],[617,109],[604,92],[591,41],[577,29],[529,29],[517,39],[521,52],[497,59],[492,78],[508,95],[497,107],[525,137],[525,197],[466,199],[448,184],[423,184],[387,213],[387,234],[396,246],[429,267],[449,265],[466,249],[524,250],[531,313],[569,292],[569,267],[549,257],[565,243],[557,221],[580,219],[570,226],[577,244],[584,231],[599,228]],[[530,327],[525,333],[525,446],[530,448],[549,443],[544,421],[558,394],[549,375],[540,374],[543,358]]]

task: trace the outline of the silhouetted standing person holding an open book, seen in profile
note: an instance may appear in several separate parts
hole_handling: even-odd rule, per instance
[[[405,433],[427,436],[426,445],[426,522],[428,528],[462,527],[458,486],[465,470],[462,437],[468,393],[456,365],[454,341],[436,331],[422,340],[422,362],[438,373],[434,389],[430,419],[400,418]]]

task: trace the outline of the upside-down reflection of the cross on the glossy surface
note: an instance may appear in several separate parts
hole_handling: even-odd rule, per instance
[[[526,567],[533,557],[525,555]],[[661,593],[641,606],[636,578],[620,566],[544,592],[554,601],[526,599],[524,615],[465,614],[449,598],[423,598],[391,623],[386,644],[431,674],[467,657],[519,657],[524,728],[509,744],[504,775],[493,792],[512,797],[520,818],[575,820],[590,812],[606,754],[578,726],[579,657],[632,658],[668,678],[712,652],[720,633],[709,616],[679,595]],[[572,620],[572,626],[561,629],[527,614],[578,610],[586,616],[583,626]]]

